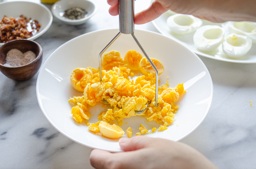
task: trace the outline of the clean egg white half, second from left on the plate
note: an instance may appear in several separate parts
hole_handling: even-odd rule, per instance
[[[202,51],[217,48],[224,39],[225,30],[216,25],[206,25],[197,29],[194,34],[195,46]]]

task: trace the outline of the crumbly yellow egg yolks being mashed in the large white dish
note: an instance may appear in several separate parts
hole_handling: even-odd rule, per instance
[[[156,59],[152,62],[157,66],[159,74],[164,70],[163,64]],[[99,81],[99,69],[77,68],[70,76],[70,81],[78,91],[84,92],[83,96],[74,96],[70,98],[69,102],[75,106],[71,113],[76,122],[81,123],[84,120],[89,120],[91,114],[88,106],[95,106],[97,103],[102,103],[102,100],[107,101],[112,109],[102,111],[97,123],[89,123],[88,129],[94,133],[101,132],[103,136],[108,138],[119,138],[124,134],[124,131],[119,126],[123,125],[124,118],[141,115],[150,121],[156,121],[162,124],[158,130],[166,130],[168,125],[174,121],[175,113],[178,106],[175,101],[183,94],[183,83],[178,84],[174,88],[170,88],[166,83],[158,87],[158,107],[155,103],[155,74],[151,65],[137,51],[128,51],[125,54],[125,60],[122,59],[120,53],[111,51],[104,54],[102,61],[102,81]],[[131,80],[129,76],[131,69],[141,70],[144,75],[140,75],[136,80]],[[149,104],[149,106],[147,106]],[[144,110],[143,113],[136,113],[136,111]],[[116,122],[114,122],[116,121]],[[117,126],[119,125],[119,126]],[[148,130],[140,124],[140,133],[136,135],[146,134]],[[127,136],[132,136],[132,129],[129,127]]]

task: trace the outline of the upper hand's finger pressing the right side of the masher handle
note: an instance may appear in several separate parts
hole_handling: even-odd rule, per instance
[[[158,2],[153,2],[148,9],[135,14],[134,23],[135,24],[145,24],[148,23],[168,11],[168,9],[163,8],[163,6]]]

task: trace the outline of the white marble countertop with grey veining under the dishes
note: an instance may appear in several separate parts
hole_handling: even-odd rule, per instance
[[[76,36],[119,27],[118,16],[108,14],[107,1],[97,3],[96,15],[80,26],[53,18],[50,29],[35,40],[43,47],[43,63],[56,48]],[[149,0],[138,0],[136,12],[148,4]],[[158,32],[152,23],[136,29]],[[213,103],[203,123],[181,142],[219,168],[256,168],[256,64],[199,57],[212,77]],[[91,148],[60,134],[41,112],[36,97],[37,75],[19,82],[0,73],[0,168],[93,168],[88,159]]]

